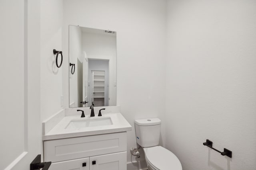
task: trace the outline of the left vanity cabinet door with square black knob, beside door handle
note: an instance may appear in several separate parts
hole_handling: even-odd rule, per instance
[[[89,158],[52,163],[49,170],[89,170]]]

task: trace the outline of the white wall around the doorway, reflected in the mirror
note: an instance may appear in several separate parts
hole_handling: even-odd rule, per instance
[[[109,60],[109,103],[116,106],[116,36],[110,33],[97,34],[84,32],[82,38],[83,51],[89,59]],[[90,74],[90,72],[89,72]],[[90,79],[89,79],[90,80]],[[90,94],[89,94],[90,95]],[[91,100],[89,99],[89,102]]]

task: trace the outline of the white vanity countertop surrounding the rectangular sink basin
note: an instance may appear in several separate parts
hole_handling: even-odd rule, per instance
[[[70,121],[83,120],[83,119],[97,119],[97,118],[108,118],[112,120],[112,125],[100,125],[92,127],[81,127],[81,128],[66,128]],[[101,117],[95,116],[90,117],[86,115],[81,118],[81,115],[68,115],[63,117],[50,131],[43,135],[42,140],[53,140],[53,139],[64,139],[71,137],[82,137],[90,135],[100,135],[106,133],[118,133],[124,131],[131,131],[132,126],[126,121],[121,113],[105,113]]]

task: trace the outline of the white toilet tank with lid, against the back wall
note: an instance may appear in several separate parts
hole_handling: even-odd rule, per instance
[[[161,120],[158,118],[136,119],[136,141],[141,147],[154,147],[159,144]]]

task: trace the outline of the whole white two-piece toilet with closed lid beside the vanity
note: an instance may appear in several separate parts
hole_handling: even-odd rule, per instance
[[[143,147],[148,170],[182,170],[180,160],[170,150],[159,144],[161,120],[136,119],[135,131],[138,145]]]

